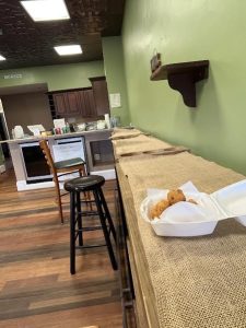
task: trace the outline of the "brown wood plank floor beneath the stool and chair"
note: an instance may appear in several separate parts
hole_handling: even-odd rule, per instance
[[[112,214],[114,187],[104,187]],[[59,222],[52,188],[16,192],[13,172],[0,175],[1,328],[122,327],[117,276],[105,247],[79,251],[70,276],[69,223]]]

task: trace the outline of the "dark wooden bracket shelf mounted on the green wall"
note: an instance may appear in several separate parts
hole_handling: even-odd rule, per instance
[[[151,81],[167,80],[172,89],[180,92],[188,107],[196,107],[196,83],[208,77],[209,60],[200,60],[161,66],[150,79]]]

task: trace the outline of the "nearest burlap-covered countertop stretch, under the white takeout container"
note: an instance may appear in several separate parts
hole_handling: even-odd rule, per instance
[[[124,157],[117,171],[132,194],[136,215],[127,216],[127,224],[160,327],[246,327],[246,227],[229,219],[209,236],[159,237],[139,213],[147,188],[177,188],[191,180],[210,194],[245,177],[189,153]]]

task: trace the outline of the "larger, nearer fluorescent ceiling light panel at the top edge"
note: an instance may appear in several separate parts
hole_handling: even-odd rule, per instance
[[[35,22],[70,19],[65,0],[28,0],[21,4]]]

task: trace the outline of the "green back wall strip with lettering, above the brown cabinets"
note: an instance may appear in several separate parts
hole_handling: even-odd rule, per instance
[[[22,79],[4,79],[4,75],[16,73]],[[90,61],[71,65],[32,67],[0,71],[0,87],[33,83],[48,83],[48,90],[63,90],[91,86],[89,78],[104,75],[103,61]]]

